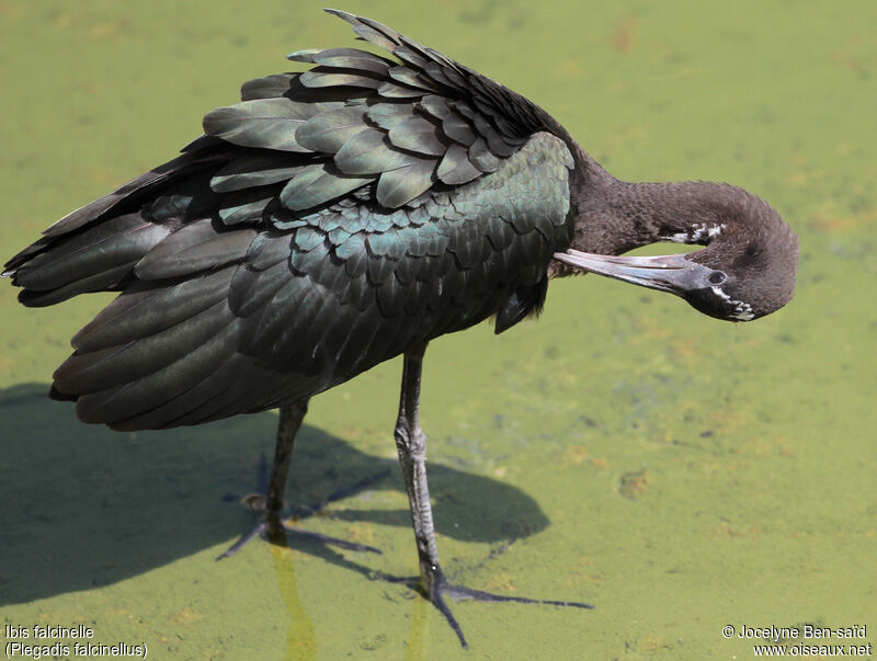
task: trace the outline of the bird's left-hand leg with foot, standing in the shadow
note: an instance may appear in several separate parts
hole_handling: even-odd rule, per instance
[[[320,533],[311,533],[304,531],[293,523],[285,521],[283,516],[284,500],[283,493],[286,490],[286,478],[289,474],[289,464],[293,459],[293,448],[295,447],[295,436],[301,426],[301,421],[308,412],[308,400],[303,399],[280,408],[280,420],[277,422],[277,442],[274,445],[274,461],[271,465],[271,479],[267,483],[266,493],[257,494],[254,498],[248,499],[249,505],[257,511],[264,512],[264,516],[259,524],[255,525],[250,532],[246,533],[232,544],[226,551],[224,551],[217,560],[228,558],[237,554],[243,548],[251,539],[263,534],[270,533],[272,537],[277,538],[280,534],[285,531],[299,537],[315,539],[331,546],[338,546],[348,550],[356,551],[372,551],[379,554],[380,551],[372,546],[364,544],[356,544],[354,542],[346,542],[337,537],[329,537]],[[383,477],[383,476],[378,476]],[[307,508],[307,515],[319,511],[320,508],[329,504],[330,502],[341,500],[360,489],[363,489],[375,481],[376,478],[364,480],[353,487],[348,487],[335,493],[331,494],[324,501],[314,508]],[[304,517],[304,516],[303,516]]]

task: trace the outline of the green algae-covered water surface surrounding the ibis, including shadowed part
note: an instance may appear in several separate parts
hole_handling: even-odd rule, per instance
[[[764,196],[800,237],[796,298],[728,324],[572,278],[536,322],[430,346],[422,418],[449,578],[595,605],[459,603],[464,652],[422,599],[375,580],[417,571],[391,435],[400,361],[312,402],[287,489],[315,503],[384,476],[300,524],[383,555],[293,538],[217,563],[254,523],[239,501],[276,417],[82,425],[45,392],[109,297],[25,309],[0,283],[3,646],[59,640],[35,626],[158,659],[745,659],[767,627],[799,632],[776,635],[789,653],[877,642],[874,3],[341,9],[533,99],[616,176]],[[287,52],[352,38],[310,1],[0,0],[4,257],[168,160],[240,82],[288,69]]]

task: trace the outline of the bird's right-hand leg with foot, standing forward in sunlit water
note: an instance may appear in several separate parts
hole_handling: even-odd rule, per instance
[[[399,398],[399,418],[396,422],[396,447],[399,463],[402,466],[408,502],[411,508],[411,521],[414,526],[414,538],[420,560],[420,577],[417,589],[445,616],[447,623],[466,648],[466,637],[456,617],[445,601],[445,596],[454,600],[475,600],[480,602],[514,602],[519,604],[546,604],[553,606],[573,606],[591,608],[581,602],[536,600],[523,596],[504,596],[481,590],[472,590],[447,582],[438,563],[438,549],[435,544],[435,526],[433,525],[430,489],[426,483],[426,434],[420,426],[420,377],[423,366],[423,354],[426,345],[406,352],[402,367],[402,388]]]

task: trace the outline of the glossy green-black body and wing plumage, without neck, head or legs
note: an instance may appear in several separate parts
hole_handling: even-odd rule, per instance
[[[244,84],[181,157],[7,264],[25,305],[122,292],[55,374],[54,395],[82,420],[159,429],[265,410],[540,307],[572,229],[573,161],[554,122],[335,13],[401,64],[294,54],[315,66]]]

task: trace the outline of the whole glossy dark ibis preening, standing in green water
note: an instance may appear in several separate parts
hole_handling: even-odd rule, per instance
[[[797,240],[764,201],[704,182],[610,175],[544,110],[380,23],[328,10],[353,48],[243,86],[174,160],[66,216],[5,265],[25,306],[119,292],[72,340],[50,396],[115,430],[280,408],[276,529],[308,399],[403,354],[395,436],[419,589],[500,601],[442,574],[418,419],[430,340],[539,312],[593,272],[749,321],[793,295]],[[658,241],[685,254],[616,257]],[[529,601],[529,600],[511,600]],[[581,605],[581,604],[570,604]]]

